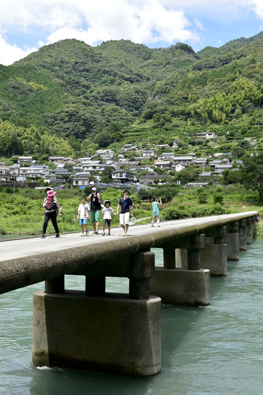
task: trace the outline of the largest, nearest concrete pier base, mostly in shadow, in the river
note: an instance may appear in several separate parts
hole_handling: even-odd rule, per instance
[[[160,372],[160,297],[35,292],[33,363],[126,376]]]

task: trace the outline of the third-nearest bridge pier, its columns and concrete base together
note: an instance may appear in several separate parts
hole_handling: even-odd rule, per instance
[[[206,236],[205,248],[200,250],[200,265],[210,270],[210,276],[226,276],[227,245],[223,238],[227,237],[227,227],[209,229]]]

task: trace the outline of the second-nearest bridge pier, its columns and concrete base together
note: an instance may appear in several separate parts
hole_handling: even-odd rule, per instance
[[[205,248],[205,235],[194,235],[169,243],[163,248],[163,268],[156,267],[150,279],[150,293],[159,295],[162,303],[205,306],[210,303],[209,270],[200,269],[199,250]],[[177,250],[177,251],[175,251]],[[186,256],[178,262],[180,251],[187,250]],[[176,257],[176,258],[175,258]]]

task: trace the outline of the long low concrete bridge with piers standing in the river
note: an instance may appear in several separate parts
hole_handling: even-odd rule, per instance
[[[161,301],[209,305],[210,275],[251,243],[257,212],[132,226],[129,236],[79,233],[0,243],[0,293],[45,280],[33,296],[33,362],[128,376],[161,369]],[[163,249],[163,267],[154,252]],[[64,275],[85,276],[85,291]],[[105,277],[128,277],[129,294],[105,292]],[[153,296],[156,295],[156,296]]]

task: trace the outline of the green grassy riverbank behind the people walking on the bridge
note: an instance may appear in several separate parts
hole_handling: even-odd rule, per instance
[[[161,220],[173,220],[180,218],[199,217],[207,215],[220,215],[227,213],[239,213],[242,211],[258,211],[263,216],[263,206],[256,202],[247,201],[253,194],[244,190],[242,186],[230,185],[224,187],[222,202],[214,203],[213,193],[215,187],[206,190],[206,203],[199,202],[199,192],[193,189],[181,188],[170,202],[160,207]],[[58,227],[61,233],[69,231],[79,231],[79,221],[77,208],[83,191],[68,190],[58,191],[58,202],[62,206],[62,216],[58,217]],[[102,194],[103,199],[111,201],[111,207],[116,212],[118,199],[122,192],[113,188],[108,188]],[[44,220],[45,210],[42,207],[45,192],[43,190],[20,190],[16,194],[0,193],[1,216],[0,233],[2,234],[23,234],[40,235]],[[152,217],[151,204],[143,202],[136,193],[131,194],[134,203],[134,214],[140,224],[150,223]],[[119,217],[112,216],[112,226],[119,224]],[[102,216],[101,225],[102,226]],[[88,223],[88,228],[92,225]],[[53,233],[51,222],[48,225],[47,233]],[[263,237],[263,221],[259,221],[257,226],[257,237]]]

